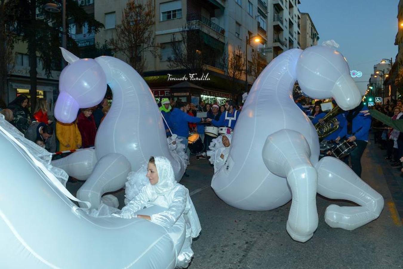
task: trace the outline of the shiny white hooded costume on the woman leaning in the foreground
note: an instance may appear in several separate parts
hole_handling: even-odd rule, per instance
[[[151,215],[151,221],[166,228],[177,250],[177,267],[187,267],[193,257],[192,238],[199,236],[201,226],[196,209],[189,196],[189,190],[177,183],[169,160],[163,156],[154,157],[158,172],[158,183],[148,183],[140,193],[123,207],[120,216],[131,218],[144,207],[162,206],[166,211]],[[182,244],[180,235],[186,229]]]

